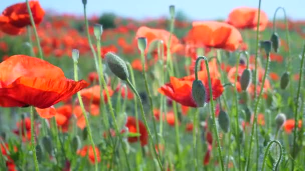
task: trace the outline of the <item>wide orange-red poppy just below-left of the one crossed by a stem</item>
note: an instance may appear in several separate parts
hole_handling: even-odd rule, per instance
[[[242,42],[240,32],[232,25],[217,21],[195,21],[184,37],[186,43],[234,51]]]

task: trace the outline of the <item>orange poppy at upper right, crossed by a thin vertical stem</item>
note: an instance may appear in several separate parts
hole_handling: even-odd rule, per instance
[[[256,29],[258,20],[258,8],[252,7],[237,7],[233,9],[228,17],[227,22],[237,28],[252,28]],[[267,14],[260,11],[259,30],[265,29],[268,23]]]

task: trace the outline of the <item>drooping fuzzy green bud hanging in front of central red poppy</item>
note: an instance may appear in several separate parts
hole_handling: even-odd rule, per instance
[[[201,80],[194,80],[192,84],[192,95],[193,98],[199,107],[205,105],[206,100],[206,89]]]

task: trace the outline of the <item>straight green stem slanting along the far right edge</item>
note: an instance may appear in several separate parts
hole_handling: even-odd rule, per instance
[[[293,131],[293,152],[292,152],[292,157],[293,159],[295,158],[295,150],[296,150],[296,132],[297,132],[297,125],[298,125],[298,99],[300,97],[300,89],[301,89],[301,84],[302,84],[302,73],[303,73],[303,62],[304,62],[304,56],[305,56],[305,43],[303,46],[303,52],[302,52],[302,58],[301,58],[301,65],[299,69],[299,78],[298,78],[298,86],[297,86],[297,93],[296,93],[296,102],[295,102],[295,109],[294,109],[294,131]],[[294,169],[294,162],[292,162],[292,169]]]

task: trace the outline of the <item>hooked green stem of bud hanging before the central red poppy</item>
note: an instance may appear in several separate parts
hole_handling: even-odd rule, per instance
[[[217,126],[216,126],[216,116],[215,116],[215,110],[214,110],[214,103],[213,103],[213,90],[212,90],[212,82],[211,82],[211,75],[210,75],[210,69],[209,69],[209,62],[207,57],[205,56],[199,56],[196,60],[196,65],[195,68],[197,68],[197,63],[198,60],[204,59],[205,64],[206,64],[206,69],[208,72],[208,80],[209,80],[209,91],[210,91],[210,111],[212,112],[212,119],[213,119],[213,129],[214,129],[214,134],[216,136],[216,142],[217,142],[217,149],[218,149],[218,155],[219,155],[219,160],[221,164],[221,170],[225,170],[225,165],[224,165],[224,160],[221,152],[221,146],[220,146],[220,139],[218,136],[218,131],[217,131]],[[197,69],[195,69],[195,77],[197,74]],[[198,78],[198,77],[197,77]]]

